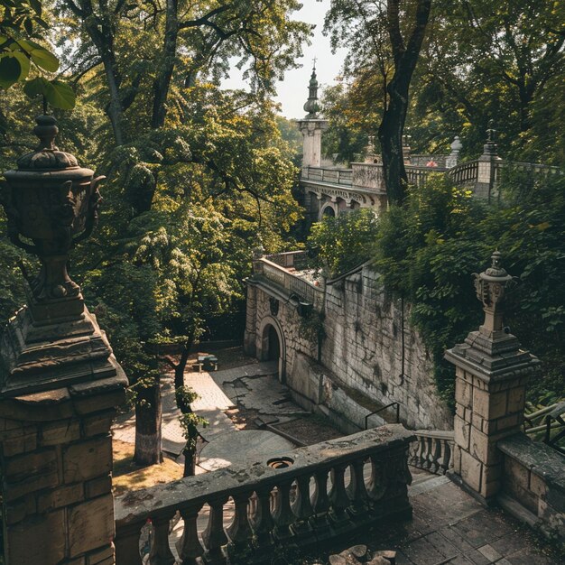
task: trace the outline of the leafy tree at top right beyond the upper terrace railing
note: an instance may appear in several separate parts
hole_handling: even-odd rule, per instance
[[[534,0],[434,5],[413,80],[412,135],[445,144],[458,134],[464,152],[477,155],[493,118],[502,155],[558,163],[553,147],[560,128],[536,126],[559,122],[563,6]],[[555,102],[548,104],[550,98]]]

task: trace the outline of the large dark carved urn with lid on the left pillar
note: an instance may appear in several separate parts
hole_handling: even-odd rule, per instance
[[[40,272],[29,279],[30,308],[36,321],[79,316],[83,310],[79,285],[67,272],[69,251],[90,235],[97,223],[104,177],[79,167],[74,155],[55,145],[59,132],[53,116],[38,116],[33,133],[40,143],[4,173],[3,199],[8,236],[14,245],[37,255]],[[31,242],[31,243],[30,243]]]

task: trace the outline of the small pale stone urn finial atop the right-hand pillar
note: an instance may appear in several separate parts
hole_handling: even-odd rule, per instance
[[[483,302],[485,323],[482,328],[488,332],[502,331],[505,289],[513,277],[506,273],[500,264],[501,254],[498,250],[493,253],[492,265],[483,273],[474,273],[477,299]]]

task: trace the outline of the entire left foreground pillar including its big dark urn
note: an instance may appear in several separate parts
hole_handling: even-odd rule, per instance
[[[39,146],[3,187],[10,240],[42,264],[25,273],[27,304],[0,343],[5,563],[111,565],[109,431],[127,379],[67,271],[71,247],[96,226],[103,177],[56,147],[53,116],[33,131]]]

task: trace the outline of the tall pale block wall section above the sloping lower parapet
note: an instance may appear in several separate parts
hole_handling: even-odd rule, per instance
[[[401,420],[409,427],[452,429],[431,357],[408,322],[410,308],[406,305],[402,312],[400,301],[384,292],[378,279],[375,270],[364,266],[327,285],[321,362],[366,397],[400,403]]]

